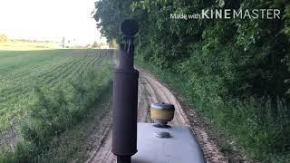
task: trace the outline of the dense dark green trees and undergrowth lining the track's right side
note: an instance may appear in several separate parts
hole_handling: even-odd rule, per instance
[[[94,19],[121,42],[121,21],[140,24],[144,62],[185,77],[185,96],[254,158],[290,150],[290,5],[285,0],[101,0]],[[279,10],[276,19],[170,18],[204,9]]]

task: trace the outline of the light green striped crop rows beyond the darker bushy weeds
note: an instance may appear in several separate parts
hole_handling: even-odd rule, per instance
[[[0,52],[0,133],[27,116],[36,88],[64,91],[73,81],[87,78],[88,71],[102,75],[102,68],[111,66],[104,55],[111,53],[100,51]]]

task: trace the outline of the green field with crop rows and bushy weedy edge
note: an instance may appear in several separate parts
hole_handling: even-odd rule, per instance
[[[47,149],[55,135],[82,120],[111,83],[113,53],[92,49],[1,51],[0,136],[5,139],[0,145],[6,153],[0,159],[9,156],[5,146],[11,144],[4,141],[16,146],[14,156],[20,152],[31,160]],[[9,130],[15,130],[12,135],[16,136],[10,136]]]

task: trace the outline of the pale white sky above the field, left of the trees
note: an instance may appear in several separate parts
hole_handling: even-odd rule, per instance
[[[96,0],[0,0],[0,34],[12,39],[105,42],[92,19]]]

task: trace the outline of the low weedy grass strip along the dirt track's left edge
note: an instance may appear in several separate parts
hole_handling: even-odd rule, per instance
[[[33,141],[22,139],[15,149],[5,150],[0,155],[0,162],[83,162],[88,157],[84,146],[89,125],[100,128],[95,120],[101,120],[102,116],[110,111],[111,82],[102,87],[98,98],[93,101],[85,112],[82,120],[75,121],[63,130],[63,133],[55,133],[45,146],[36,146]],[[44,147],[44,150],[43,150]]]

